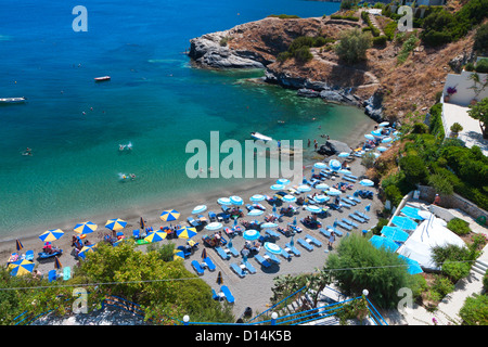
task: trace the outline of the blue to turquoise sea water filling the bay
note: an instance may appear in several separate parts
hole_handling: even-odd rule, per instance
[[[86,12],[74,11],[78,5]],[[180,197],[242,184],[185,174],[194,155],[188,143],[209,143],[210,131],[220,141],[244,142],[252,131],[304,146],[321,133],[350,141],[356,127],[372,123],[362,111],[256,82],[260,69],[196,68],[185,54],[189,40],[206,33],[270,14],[322,16],[338,7],[0,0],[0,98],[27,98],[0,106],[0,240],[91,215],[117,218],[117,210],[154,204],[168,209]],[[94,82],[105,75],[110,81]],[[119,151],[129,143],[131,150]],[[31,155],[24,155],[27,147]],[[314,159],[313,151],[305,154]],[[123,179],[130,174],[134,180]]]

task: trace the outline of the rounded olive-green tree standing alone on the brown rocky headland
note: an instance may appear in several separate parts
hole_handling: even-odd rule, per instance
[[[341,41],[335,46],[335,52],[346,63],[354,64],[365,60],[367,50],[371,48],[371,35],[355,28],[341,35]]]

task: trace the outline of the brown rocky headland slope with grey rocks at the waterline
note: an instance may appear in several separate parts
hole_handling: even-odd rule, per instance
[[[401,65],[397,59],[401,43],[394,42],[373,47],[367,61],[355,65],[341,62],[333,43],[312,48],[313,59],[306,64],[275,60],[299,36],[338,39],[342,31],[362,26],[362,22],[322,17],[268,17],[194,38],[189,55],[206,68],[265,68],[265,81],[296,89],[301,97],[362,106],[378,121],[401,121],[410,113],[426,113],[452,72],[450,61],[466,54],[473,43],[471,34],[440,49],[420,46]]]

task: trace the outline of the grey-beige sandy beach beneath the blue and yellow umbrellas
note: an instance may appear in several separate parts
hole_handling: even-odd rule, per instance
[[[359,128],[354,129],[350,136],[350,141],[346,141],[351,147],[357,147],[357,145],[362,144],[364,141],[363,134],[371,131],[372,129],[370,127],[368,128]],[[323,131],[321,131],[323,132]],[[331,136],[333,139],[333,137]],[[318,138],[320,139],[320,138]],[[320,143],[323,143],[323,140],[319,141]],[[313,146],[309,149],[305,149],[305,151],[313,151]],[[310,154],[310,153],[309,153]],[[323,156],[317,155],[317,158],[320,158]],[[332,157],[326,157],[325,162],[328,162]],[[360,158],[356,158],[352,163],[349,164],[350,170],[352,175],[360,177],[364,174],[365,168],[360,165]],[[311,164],[308,165],[308,167],[305,168],[305,177],[307,179],[310,179],[311,176]],[[338,182],[341,180],[336,179],[335,181],[332,181],[331,179],[325,180],[324,182],[329,185],[334,184],[335,182]],[[359,180],[358,180],[359,181]],[[218,191],[214,192],[211,194],[207,195],[198,195],[195,193],[191,197],[187,198],[180,198],[176,200],[171,206],[147,206],[147,207],[134,207],[131,210],[120,211],[118,218],[121,218],[128,222],[127,227],[124,229],[126,235],[131,235],[133,229],[139,229],[139,220],[142,216],[144,220],[146,221],[147,226],[153,227],[154,230],[159,229],[162,226],[169,226],[169,222],[164,222],[159,219],[159,215],[162,210],[174,208],[181,213],[181,217],[178,220],[178,222],[182,226],[187,224],[187,217],[191,216],[191,210],[196,205],[205,204],[207,205],[207,211],[214,210],[215,213],[219,213],[220,206],[217,204],[217,200],[222,196],[230,196],[230,195],[239,195],[244,200],[244,203],[249,203],[249,197],[254,194],[266,194],[266,195],[272,195],[272,191],[269,189],[271,184],[275,182],[275,179],[260,179],[258,183],[256,182],[249,182],[248,184],[241,185],[239,189],[233,191]],[[348,191],[348,195],[352,194],[354,191],[358,189],[363,189],[359,183],[354,183],[354,189]],[[369,190],[375,190],[374,188],[368,188]],[[314,190],[312,190],[313,193]],[[376,194],[375,194],[376,195]],[[264,217],[271,213],[272,206],[270,206],[267,202],[261,203],[266,208],[266,213],[259,217],[246,217],[240,219],[240,220],[258,220],[262,221]],[[350,209],[343,208],[343,211],[330,211],[329,217],[320,219],[319,221],[322,222],[323,226],[329,226],[334,222],[335,218],[347,218],[350,213],[352,213],[355,209],[363,210],[364,207],[371,204],[371,211],[369,213],[369,216],[371,217],[370,221],[367,223],[361,223],[358,229],[352,229],[351,232],[354,233],[361,233],[361,230],[363,229],[370,229],[371,227],[374,227],[377,222],[375,211],[377,209],[382,209],[382,203],[377,200],[376,196],[373,197],[373,200],[362,200],[360,204],[357,206],[352,206]],[[294,204],[295,206],[298,206]],[[321,247],[314,247],[312,252],[306,250],[304,247],[298,245],[295,242],[295,246],[300,250],[301,255],[299,257],[293,257],[291,260],[286,260],[283,257],[279,256],[281,264],[280,265],[273,265],[269,267],[268,269],[264,269],[259,266],[259,264],[253,259],[249,258],[249,261],[255,266],[257,273],[255,274],[247,274],[245,278],[241,279],[239,278],[231,269],[230,269],[230,262],[240,264],[241,257],[233,258],[231,257],[230,260],[222,260],[218,254],[209,248],[207,248],[207,255],[214,260],[215,265],[217,266],[216,271],[209,272],[208,270],[205,270],[205,273],[201,277],[204,281],[206,281],[210,287],[216,290],[218,292],[219,285],[217,284],[217,274],[219,271],[223,275],[223,284],[228,285],[230,291],[235,297],[235,304],[233,306],[233,312],[235,317],[240,317],[244,309],[246,307],[251,307],[253,309],[253,314],[256,314],[258,312],[262,312],[269,307],[270,297],[272,296],[271,287],[273,285],[273,279],[278,275],[284,275],[284,274],[298,274],[304,272],[313,272],[317,268],[321,268],[324,265],[324,261],[329,255],[330,252],[334,252],[334,249],[329,250],[328,249],[328,239],[323,236],[321,233],[319,233],[318,229],[311,230],[306,228],[299,222],[299,219],[309,216],[310,213],[304,209],[303,207],[299,207],[299,214],[296,215],[298,220],[298,226],[303,228],[303,232],[296,234],[295,241],[298,237],[304,239],[305,234],[310,234],[318,239],[320,242],[322,242]],[[243,207],[243,210],[245,210],[245,207]],[[207,216],[207,211],[204,213],[205,216]],[[113,217],[111,217],[113,218]],[[98,231],[95,231],[92,234],[89,234],[87,237],[91,243],[97,243],[102,240],[103,235],[108,232],[107,229],[104,228],[105,222],[107,220],[107,216],[87,216],[86,220],[91,220],[94,223],[99,226]],[[65,231],[65,234],[60,240],[53,242],[54,245],[62,248],[63,255],[61,256],[60,260],[63,266],[65,267],[76,267],[77,260],[75,257],[70,254],[73,250],[72,247],[72,235],[75,234],[73,231],[73,227],[75,223],[79,222],[77,221],[68,221],[63,222],[60,224],[53,224],[52,228],[60,228],[63,231]],[[283,217],[282,221],[279,222],[281,227],[285,227],[287,222],[292,222],[293,217]],[[172,222],[175,223],[175,222]],[[226,223],[224,226],[231,226],[232,222]],[[50,228],[50,229],[52,229]],[[38,235],[41,234],[44,230],[24,230],[22,233],[20,233],[18,237],[21,242],[24,245],[24,249],[21,250],[21,253],[25,253],[27,249],[33,249],[35,255],[37,255],[38,252],[41,252],[42,249],[42,242],[39,240]],[[344,234],[347,233],[346,230],[342,230]],[[195,273],[193,268],[191,267],[191,260],[200,260],[202,249],[205,247],[202,242],[202,235],[204,234],[210,234],[211,232],[202,229],[198,234],[194,237],[197,242],[200,242],[198,249],[192,255],[190,258],[185,259],[185,267],[192,272]],[[262,234],[262,233],[261,233]],[[277,244],[280,246],[284,246],[285,243],[290,242],[290,237],[285,237],[284,235],[280,234],[281,237],[277,241]],[[341,237],[338,237],[335,242],[335,246],[341,241]],[[171,242],[175,243],[176,246],[185,244],[185,240],[178,240],[178,239],[171,239],[171,240],[165,240],[163,242]],[[233,237],[232,243],[233,246],[241,250],[244,246],[244,239],[241,235],[237,235]],[[138,249],[143,250],[145,246],[138,246]],[[9,259],[9,256],[11,253],[16,252],[15,250],[15,239],[9,239],[0,241],[0,257],[4,259],[5,261]],[[264,249],[261,249],[260,254],[264,254]],[[47,275],[48,271],[53,269],[53,261],[39,264],[36,261],[36,268],[40,270],[43,274]]]

